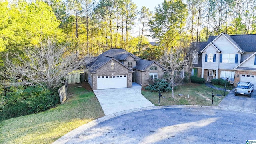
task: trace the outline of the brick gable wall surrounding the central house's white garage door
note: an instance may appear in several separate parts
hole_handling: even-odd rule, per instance
[[[110,70],[112,61],[115,64],[115,70]],[[127,87],[132,87],[132,72],[129,72],[128,68],[124,67],[122,64],[117,62],[116,60],[111,60],[106,63],[104,66],[99,68],[96,71],[96,74],[92,76],[93,90],[97,90],[97,76],[112,76],[112,75],[127,75]]]

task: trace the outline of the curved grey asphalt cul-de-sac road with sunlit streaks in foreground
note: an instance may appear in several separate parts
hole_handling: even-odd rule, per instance
[[[162,106],[109,115],[66,134],[66,144],[245,144],[256,114],[210,106]],[[135,111],[135,110],[134,110]]]

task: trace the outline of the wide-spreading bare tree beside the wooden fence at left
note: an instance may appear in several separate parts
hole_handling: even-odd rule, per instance
[[[10,60],[6,55],[3,76],[10,85],[27,85],[53,89],[64,83],[64,76],[92,61],[92,56],[77,60],[78,53],[68,54],[67,46],[56,45],[52,40],[35,48],[25,48],[23,54]]]

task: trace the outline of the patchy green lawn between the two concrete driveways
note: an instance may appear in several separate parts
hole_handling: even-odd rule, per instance
[[[212,104],[212,90],[214,94]],[[142,95],[152,102],[155,106],[158,106],[158,92],[150,92],[147,90],[141,91]],[[224,91],[215,90],[205,86],[204,84],[184,84],[178,86],[174,90],[174,98],[172,98],[172,92],[161,93],[160,105],[205,105],[205,106],[217,106],[224,98]],[[183,96],[178,96],[183,94]],[[189,98],[187,98],[189,94]],[[217,94],[222,96],[216,96]],[[226,92],[226,95],[228,92]]]

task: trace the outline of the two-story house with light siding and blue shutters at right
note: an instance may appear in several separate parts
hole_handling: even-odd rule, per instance
[[[256,34],[221,33],[218,36],[210,36],[206,43],[198,44],[201,45],[198,46],[200,52],[192,53],[193,56],[198,53],[197,56],[202,57],[201,67],[194,64],[198,72],[201,72],[198,76],[205,78],[206,81],[213,78],[229,78],[235,85],[239,81],[250,81],[256,85]],[[198,58],[198,61],[201,60]]]

